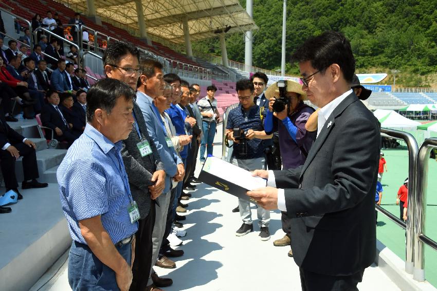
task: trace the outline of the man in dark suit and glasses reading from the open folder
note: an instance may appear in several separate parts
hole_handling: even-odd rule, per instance
[[[291,245],[302,290],[358,290],[375,258],[379,124],[350,87],[355,60],[341,33],[309,38],[293,59],[302,90],[321,108],[317,139],[303,166],[254,172],[279,189],[248,195],[292,218]]]

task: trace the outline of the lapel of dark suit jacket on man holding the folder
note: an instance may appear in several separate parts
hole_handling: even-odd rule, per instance
[[[355,93],[349,94],[343,102],[341,102],[332,112],[332,114],[326,119],[325,124],[323,125],[322,130],[319,133],[319,136],[317,137],[316,141],[314,142],[313,146],[308,152],[308,156],[306,157],[305,164],[303,165],[301,177],[303,176],[303,173],[305,172],[308,165],[313,161],[314,157],[316,156],[317,152],[319,151],[320,147],[323,145],[324,141],[328,137],[331,130],[335,127],[335,118],[341,114],[341,112],[344,111],[350,104],[357,101],[358,98],[355,95]]]

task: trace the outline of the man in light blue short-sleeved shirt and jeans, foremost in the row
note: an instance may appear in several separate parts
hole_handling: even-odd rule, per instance
[[[73,240],[68,281],[73,290],[129,290],[138,207],[120,150],[132,131],[135,92],[114,79],[87,94],[88,124],[57,172],[62,209]]]

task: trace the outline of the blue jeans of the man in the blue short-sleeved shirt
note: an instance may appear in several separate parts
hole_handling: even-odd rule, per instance
[[[131,265],[131,244],[119,246],[117,250],[128,265]],[[70,247],[68,283],[73,291],[120,290],[114,270],[97,259],[87,245],[76,241]]]

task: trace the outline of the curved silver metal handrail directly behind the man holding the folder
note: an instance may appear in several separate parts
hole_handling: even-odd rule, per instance
[[[406,246],[406,258],[405,258],[405,271],[408,274],[413,274],[414,271],[414,246],[417,241],[414,239],[414,230],[416,229],[415,222],[415,203],[416,200],[416,166],[417,166],[417,154],[418,154],[418,146],[417,142],[414,139],[413,135],[407,132],[381,128],[381,133],[388,135],[390,138],[404,140],[407,144],[408,148],[408,207],[409,211],[407,212],[407,246]],[[378,207],[376,207],[377,210]],[[385,212],[381,211],[383,214],[387,215]],[[399,220],[393,218],[391,216],[387,216],[390,220],[399,225]]]

